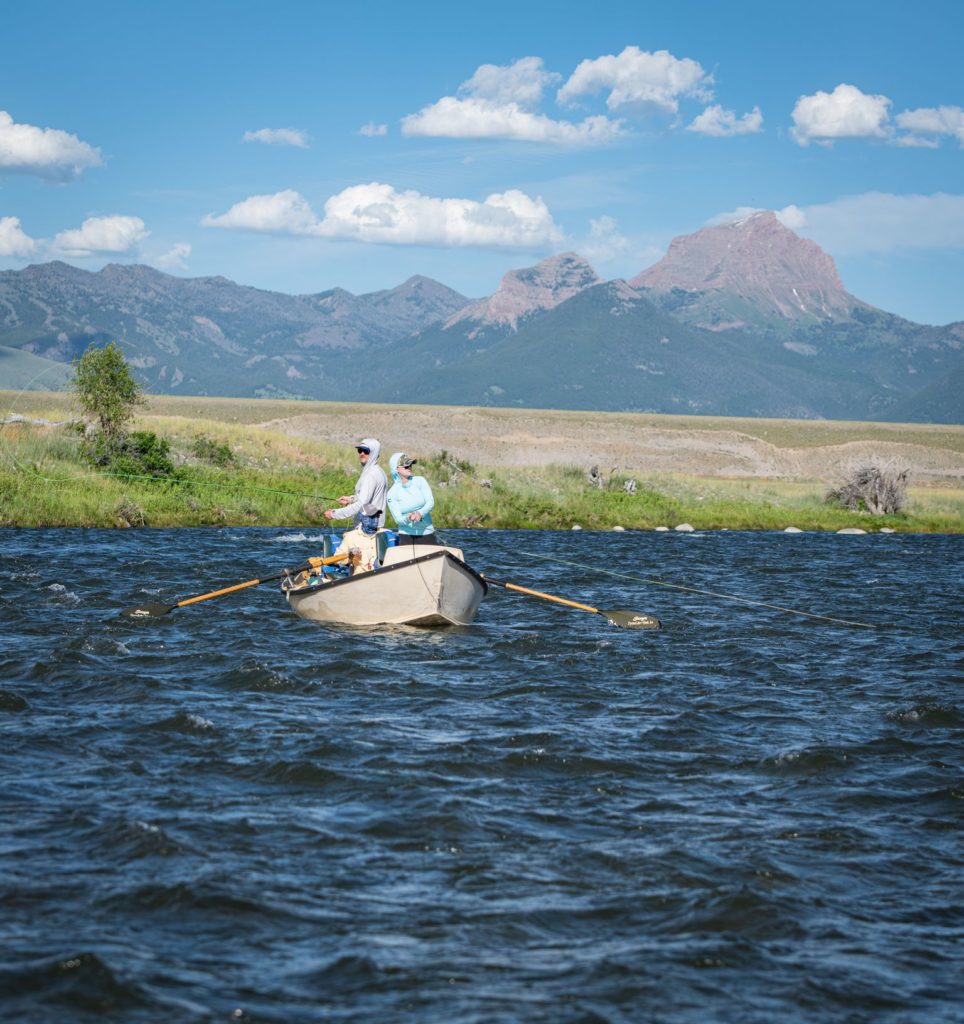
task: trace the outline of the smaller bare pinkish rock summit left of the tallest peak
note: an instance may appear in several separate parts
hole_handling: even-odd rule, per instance
[[[582,256],[559,253],[535,266],[509,270],[495,294],[456,313],[446,327],[470,319],[477,322],[479,327],[507,327],[515,331],[527,316],[554,309],[584,289],[600,284],[601,280]]]

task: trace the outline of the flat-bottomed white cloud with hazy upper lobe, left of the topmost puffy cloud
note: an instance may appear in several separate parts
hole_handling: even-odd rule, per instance
[[[622,123],[591,117],[556,121],[535,108],[544,88],[560,76],[547,72],[540,57],[522,57],[507,67],[483,65],[456,96],[443,96],[402,119],[405,135],[446,138],[505,138],[515,141],[593,145],[623,133]]]

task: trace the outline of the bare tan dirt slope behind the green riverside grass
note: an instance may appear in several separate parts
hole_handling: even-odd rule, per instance
[[[387,451],[432,455],[445,449],[478,466],[575,463],[646,475],[837,478],[854,463],[895,459],[917,483],[964,481],[964,428],[930,425],[743,420],[680,422],[631,414],[426,407],[340,407],[261,426],[351,444],[378,437]],[[735,429],[739,422],[741,429]],[[778,438],[776,441],[772,438]],[[855,439],[852,439],[855,438]]]

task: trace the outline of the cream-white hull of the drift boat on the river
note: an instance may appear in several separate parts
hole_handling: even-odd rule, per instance
[[[296,614],[347,626],[467,626],[486,596],[486,582],[458,548],[389,548],[385,562],[364,572],[287,591]]]

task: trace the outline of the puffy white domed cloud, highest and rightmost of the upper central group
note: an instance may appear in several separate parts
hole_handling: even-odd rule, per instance
[[[712,82],[713,76],[688,57],[680,59],[668,50],[651,53],[638,46],[627,46],[618,56],[583,60],[556,99],[569,103],[577,96],[609,89],[606,105],[611,111],[642,106],[675,114],[682,96],[712,99]]]

